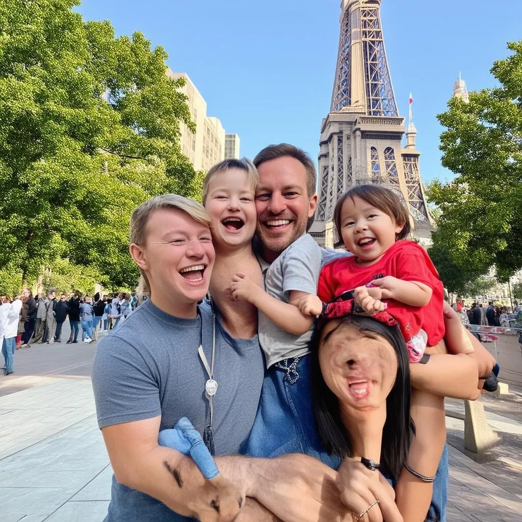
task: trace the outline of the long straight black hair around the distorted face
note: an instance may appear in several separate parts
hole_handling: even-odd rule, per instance
[[[397,357],[397,376],[386,399],[386,421],[383,428],[381,464],[393,478],[398,479],[406,464],[415,426],[410,417],[410,369],[406,343],[398,326],[388,326],[371,317],[347,315],[334,330],[351,325],[362,335],[375,335],[392,345]],[[329,337],[326,336],[325,340]],[[352,449],[348,432],[341,421],[339,399],[325,383],[319,366],[319,341],[321,329],[317,328],[312,339],[312,402],[319,440],[329,454],[351,457]]]

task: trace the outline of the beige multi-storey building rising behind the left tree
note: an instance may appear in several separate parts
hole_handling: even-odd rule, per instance
[[[225,129],[218,118],[207,116],[207,102],[186,73],[173,73],[168,69],[167,74],[185,80],[181,92],[188,98],[188,109],[196,123],[196,134],[185,124],[181,125],[181,151],[196,170],[207,171],[225,157]]]

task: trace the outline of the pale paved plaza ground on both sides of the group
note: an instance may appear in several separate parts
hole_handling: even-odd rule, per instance
[[[18,350],[15,373],[0,376],[2,522],[101,521],[109,504],[112,471],[90,382],[96,344],[65,344],[68,328],[62,338]],[[479,399],[502,437],[480,462],[464,453],[464,421],[447,418],[448,522],[522,520],[522,388],[510,388],[518,393]],[[462,401],[448,400],[447,410],[464,412]]]

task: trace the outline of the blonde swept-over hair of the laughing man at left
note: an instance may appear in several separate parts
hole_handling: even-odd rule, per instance
[[[136,207],[133,210],[129,232],[129,243],[144,246],[147,242],[147,223],[152,212],[164,208],[181,210],[198,223],[210,228],[210,217],[205,208],[197,203],[197,201],[177,194],[163,194],[145,201],[145,203],[142,203],[139,207]],[[150,295],[149,280],[141,268],[139,271],[141,277],[138,284],[138,293],[140,295]]]

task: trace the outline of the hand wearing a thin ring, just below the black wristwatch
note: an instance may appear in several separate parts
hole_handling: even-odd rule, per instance
[[[337,471],[337,487],[341,501],[361,522],[403,522],[395,504],[393,488],[378,471],[367,469],[360,461],[345,458]],[[362,518],[358,516],[374,502]]]

